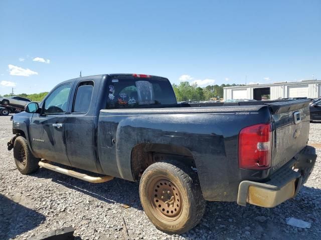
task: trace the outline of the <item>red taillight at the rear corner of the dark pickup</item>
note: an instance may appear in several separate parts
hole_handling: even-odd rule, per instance
[[[272,125],[262,123],[243,128],[239,134],[239,167],[266,169],[271,166]]]

